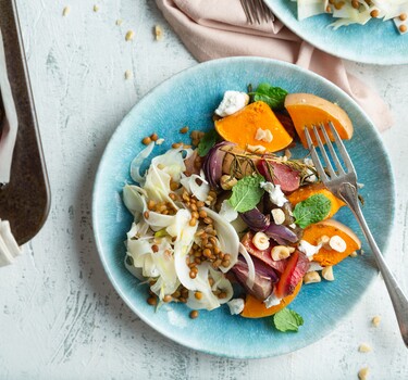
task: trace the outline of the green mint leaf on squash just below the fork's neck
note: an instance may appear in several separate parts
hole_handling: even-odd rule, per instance
[[[295,216],[295,223],[306,228],[313,223],[323,220],[332,207],[332,201],[323,194],[314,194],[309,197],[302,202],[299,202],[293,213]]]

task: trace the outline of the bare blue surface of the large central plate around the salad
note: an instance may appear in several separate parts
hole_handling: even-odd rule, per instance
[[[346,258],[335,268],[336,280],[305,286],[292,308],[305,325],[297,333],[274,329],[271,318],[245,319],[231,316],[227,306],[200,312],[189,319],[183,304],[166,304],[158,312],[146,302],[147,290],[123,264],[124,240],[132,216],[124,207],[122,187],[132,182],[129,163],[144,148],[143,137],[157,131],[168,150],[183,135],[185,125],[207,130],[225,90],[245,91],[248,84],[269,81],[289,92],[312,92],[345,109],[355,125],[347,148],[355,162],[366,199],[364,215],[382,250],[385,250],[394,215],[394,185],[390,162],[379,134],[359,106],[327,80],[297,66],[258,58],[231,58],[199,64],[166,80],[144,98],[113,134],[104,151],[94,188],[94,231],[100,258],[119,294],[148,325],[163,335],[194,350],[210,354],[255,358],[285,354],[304,347],[331,332],[362,296],[375,277],[370,254]],[[185,137],[187,142],[187,137]],[[298,147],[295,154],[304,156]],[[381,186],[379,186],[381,183]],[[343,207],[344,208],[344,207]],[[381,215],[381,218],[378,216]],[[358,231],[348,210],[337,218]],[[361,238],[362,239],[362,238]],[[364,251],[369,251],[367,246]]]

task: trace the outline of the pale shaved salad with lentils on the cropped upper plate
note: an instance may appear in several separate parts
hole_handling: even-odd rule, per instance
[[[335,29],[351,24],[367,24],[371,18],[393,20],[400,34],[407,33],[407,0],[293,0],[297,1],[298,20],[329,13]]]

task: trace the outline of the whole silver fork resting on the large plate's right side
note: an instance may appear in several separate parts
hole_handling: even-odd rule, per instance
[[[329,122],[329,126],[331,132],[334,136],[334,140],[336,142],[339,155],[346,166],[346,170],[344,170],[336,152],[334,151],[333,144],[330,141],[327,132],[324,128],[324,125],[320,125],[319,127],[313,126],[313,134],[314,138],[319,144],[321,154],[323,156],[323,161],[325,164],[325,169],[318,156],[317,150],[313,145],[312,139],[308,131],[308,128],[305,128],[305,135],[308,142],[308,147],[310,150],[311,159],[313,164],[317,168],[317,172],[323,182],[323,185],[336,197],[343,199],[347,205],[350,207],[351,212],[354,213],[357,221],[360,225],[360,228],[370,244],[370,248],[374,254],[376,265],[384,278],[385,286],[388,290],[391,301],[394,306],[395,315],[398,320],[398,326],[400,333],[403,335],[403,340],[405,345],[408,347],[408,300],[407,296],[404,294],[403,290],[399,288],[394,275],[391,273],[387,264],[384,261],[383,255],[379,246],[375,243],[374,238],[371,235],[371,231],[367,225],[364,216],[362,215],[358,194],[357,194],[357,174],[356,169],[353,166],[350,156],[348,155],[346,148],[341,140],[337,131],[335,130],[333,124]],[[320,138],[319,129],[321,131],[321,136],[329,149],[330,155],[334,163],[334,167],[331,164],[329,159],[329,154],[323,147],[322,139]]]

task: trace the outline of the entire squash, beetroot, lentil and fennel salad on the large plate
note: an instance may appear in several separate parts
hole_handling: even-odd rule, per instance
[[[126,268],[148,283],[158,308],[184,303],[190,317],[226,304],[236,318],[274,316],[281,331],[304,317],[287,305],[301,287],[335,279],[336,264],[361,248],[333,219],[344,206],[320,182],[311,160],[294,157],[304,128],[332,121],[344,139],[353,124],[338,105],[268,83],[225,91],[213,129],[174,131],[172,148],[152,131],[123,188],[133,214]],[[177,135],[189,134],[191,143]]]

